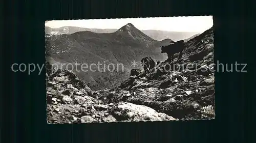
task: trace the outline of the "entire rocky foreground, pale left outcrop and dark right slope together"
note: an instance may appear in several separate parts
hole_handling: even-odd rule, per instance
[[[143,73],[131,76],[119,87],[100,91],[92,91],[73,72],[59,69],[51,74],[51,65],[48,65],[47,121],[91,123],[214,119],[213,41],[213,29],[210,28],[186,42],[180,61],[177,61],[177,54],[174,61],[166,60],[159,68],[152,69],[147,78]],[[188,65],[189,68],[181,68]],[[172,70],[166,70],[169,68]],[[180,70],[173,70],[178,68]]]

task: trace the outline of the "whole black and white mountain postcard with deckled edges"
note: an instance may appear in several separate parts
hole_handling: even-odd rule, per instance
[[[212,16],[45,22],[47,123],[215,119]]]

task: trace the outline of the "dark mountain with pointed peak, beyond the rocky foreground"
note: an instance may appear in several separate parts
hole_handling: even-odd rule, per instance
[[[137,67],[133,67],[133,61],[140,62],[144,56],[163,61],[166,55],[161,54],[159,44],[155,46],[155,43],[159,41],[146,36],[128,23],[115,33],[84,31],[71,35],[46,35],[46,54],[49,62],[59,64],[115,64],[114,72],[100,72],[104,66],[96,72],[75,71],[80,78],[91,82],[89,85],[92,89],[102,89],[117,85],[129,77],[132,68],[142,69],[139,63]],[[93,70],[95,69],[96,66]]]

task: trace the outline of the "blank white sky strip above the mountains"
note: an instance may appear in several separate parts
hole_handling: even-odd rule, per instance
[[[51,20],[45,25],[58,28],[76,26],[86,28],[119,29],[132,23],[139,30],[162,30],[173,32],[199,32],[208,30],[214,23],[212,16],[180,16],[151,18],[120,18],[120,19],[86,19],[86,20]]]

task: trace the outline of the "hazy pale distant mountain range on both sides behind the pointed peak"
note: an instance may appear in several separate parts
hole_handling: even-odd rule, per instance
[[[45,27],[46,34],[73,34],[81,31],[90,31],[94,33],[114,33],[118,29],[98,29],[98,28],[84,28],[84,27],[74,27],[74,26],[63,26],[59,28]],[[179,41],[183,39],[190,38],[198,33],[196,32],[169,32],[169,31],[159,31],[159,30],[141,30],[148,37],[155,40],[162,41],[164,39],[172,39],[174,41]]]

